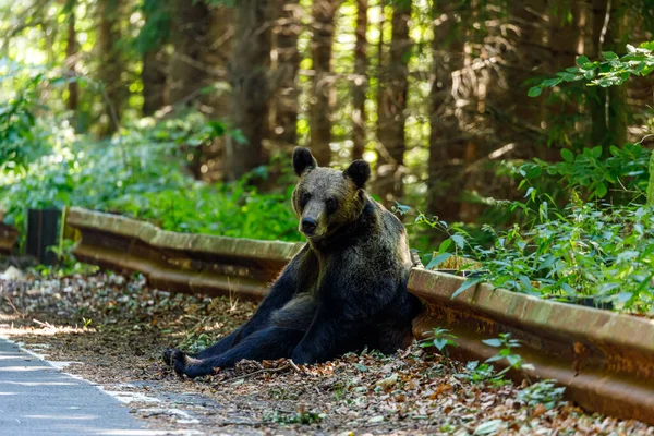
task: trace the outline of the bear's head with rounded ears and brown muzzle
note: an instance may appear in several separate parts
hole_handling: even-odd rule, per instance
[[[295,147],[293,169],[300,177],[293,191],[293,210],[300,219],[300,231],[310,241],[356,221],[365,204],[363,189],[371,177],[365,160],[355,160],[339,171],[318,167],[308,149]]]

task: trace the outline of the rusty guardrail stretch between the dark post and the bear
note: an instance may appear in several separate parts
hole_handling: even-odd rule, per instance
[[[263,298],[303,245],[170,232],[76,207],[69,209],[65,225],[80,232],[73,251],[80,261],[143,272],[159,289],[249,299]]]

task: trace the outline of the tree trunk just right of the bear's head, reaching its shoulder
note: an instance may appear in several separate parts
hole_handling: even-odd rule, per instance
[[[377,138],[379,158],[377,192],[384,204],[392,205],[402,196],[404,173],[404,122],[407,90],[409,88],[409,58],[411,40],[409,21],[411,0],[397,0],[391,19],[392,33],[388,63],[379,65],[377,108]]]

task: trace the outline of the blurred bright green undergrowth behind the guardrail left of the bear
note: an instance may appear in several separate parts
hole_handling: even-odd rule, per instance
[[[146,219],[166,230],[296,241],[289,185],[259,194],[246,180],[216,185],[193,180],[184,157],[223,133],[221,124],[198,116],[144,121],[106,142],[71,142],[71,131],[59,131],[52,140],[68,142],[52,141],[49,153],[23,170],[0,174],[5,192],[0,208],[17,227],[26,208],[74,205]]]

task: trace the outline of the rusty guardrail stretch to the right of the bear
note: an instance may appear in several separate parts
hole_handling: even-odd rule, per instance
[[[414,269],[409,290],[426,308],[413,323],[416,338],[434,327],[448,328],[461,361],[497,353],[482,339],[510,332],[523,344],[516,352],[534,371],[518,377],[553,378],[583,408],[654,424],[654,319],[541,300],[493,289],[452,293],[464,279]],[[494,363],[496,364],[496,363]]]

